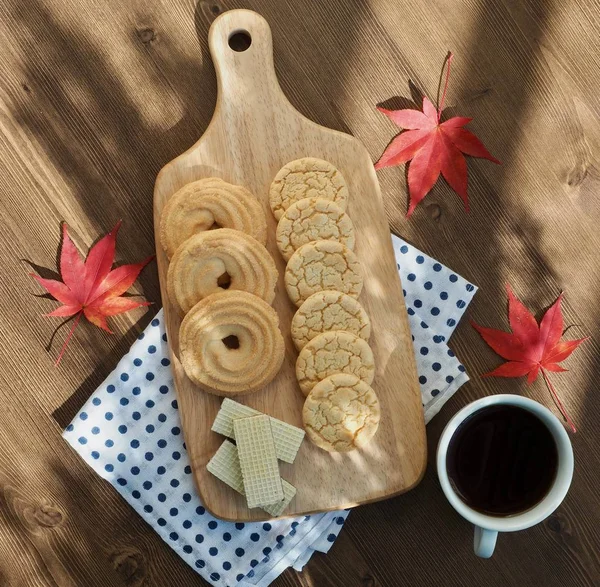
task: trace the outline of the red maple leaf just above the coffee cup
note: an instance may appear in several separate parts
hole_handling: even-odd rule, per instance
[[[562,293],[546,311],[538,326],[533,314],[517,299],[508,284],[506,292],[508,293],[508,320],[512,334],[494,328],[485,328],[471,321],[471,325],[479,332],[483,340],[496,353],[508,360],[507,363],[503,363],[483,377],[522,377],[527,375],[527,383],[531,384],[541,372],[561,414],[575,432],[575,426],[558,398],[547,371],[556,373],[567,371],[559,363],[564,361],[589,337],[560,340],[564,326],[560,307]]]

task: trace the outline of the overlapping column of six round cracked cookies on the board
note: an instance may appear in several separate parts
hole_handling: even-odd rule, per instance
[[[269,196],[285,286],[298,306],[291,334],[304,427],[324,450],[360,448],[377,431],[380,407],[346,181],[327,161],[298,159],[277,173]]]

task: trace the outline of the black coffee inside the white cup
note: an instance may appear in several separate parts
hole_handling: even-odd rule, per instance
[[[507,516],[545,497],[556,476],[558,452],[537,416],[516,406],[490,406],[458,427],[446,466],[454,491],[469,507]]]

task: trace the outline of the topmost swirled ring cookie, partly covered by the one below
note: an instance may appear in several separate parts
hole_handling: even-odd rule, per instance
[[[160,215],[160,242],[171,258],[190,236],[211,228],[233,228],[267,242],[267,221],[260,202],[245,188],[210,177],[184,185]]]

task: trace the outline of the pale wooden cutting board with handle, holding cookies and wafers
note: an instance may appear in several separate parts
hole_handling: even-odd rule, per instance
[[[373,388],[381,402],[381,423],[369,445],[352,453],[330,454],[306,439],[293,465],[280,464],[282,477],[298,490],[284,515],[352,507],[407,491],[425,470],[425,426],[402,287],[369,154],[357,139],[318,126],[291,106],[277,82],[271,31],[261,16],[248,10],[222,14],[210,29],[209,45],[218,81],[215,113],[202,138],[159,173],[154,189],[155,227],[169,197],[184,184],[205,177],[241,184],[264,204],[267,247],[279,269],[273,305],[286,339],[286,357],[279,375],[264,390],[236,399],[301,427],[304,396],[294,374],[297,352],[290,338],[295,307],[285,292],[285,262],[275,244],[276,222],[268,190],[277,171],[300,157],[325,159],[342,172],[365,278],[360,302],[372,322]],[[249,510],[243,497],[206,471],[206,463],[224,440],[210,430],[221,398],[198,389],[181,367],[180,319],[168,300],[168,261],[158,238],[156,248],[179,413],[202,501],[220,518],[266,519],[268,514]]]

